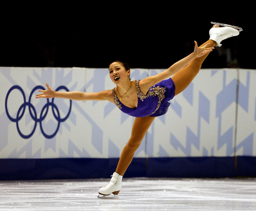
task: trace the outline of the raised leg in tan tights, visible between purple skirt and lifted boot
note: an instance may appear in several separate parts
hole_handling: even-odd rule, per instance
[[[207,48],[211,48],[216,45],[215,41],[208,40],[204,44],[202,44],[200,47],[204,46],[207,43],[210,43],[210,45],[207,46]],[[180,70],[178,73],[176,73],[172,77],[172,80],[175,84],[175,95],[180,94],[185,88],[188,87],[191,81],[196,77],[197,73],[201,69],[204,59],[208,55],[209,53],[205,54],[202,57],[195,58],[186,67],[184,67],[182,70]]]

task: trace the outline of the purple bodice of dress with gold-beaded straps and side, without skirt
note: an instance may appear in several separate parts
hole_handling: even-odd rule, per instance
[[[115,89],[112,89],[114,101],[116,106],[121,109],[124,113],[127,113],[131,116],[142,115],[141,113],[145,113],[143,116],[149,116],[154,114],[160,107],[161,102],[164,100],[165,87],[160,87],[154,85],[149,88],[148,93],[145,95],[141,92],[139,87],[139,81],[135,80],[136,90],[138,95],[138,106],[135,109],[129,108],[125,106],[116,96]],[[140,113],[140,114],[136,114]]]

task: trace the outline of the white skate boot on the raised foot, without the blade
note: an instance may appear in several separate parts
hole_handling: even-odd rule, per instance
[[[228,39],[229,37],[237,36],[239,30],[231,26],[220,27],[219,25],[214,25],[209,31],[210,40],[216,42],[215,46],[221,46],[220,42],[222,40]]]

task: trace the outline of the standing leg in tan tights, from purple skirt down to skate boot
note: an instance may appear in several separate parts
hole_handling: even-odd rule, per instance
[[[133,155],[135,151],[140,146],[140,143],[145,136],[146,132],[148,131],[148,128],[152,124],[155,117],[136,117],[132,126],[132,134],[125,145],[118,165],[116,167],[116,173],[119,175],[124,175],[126,169],[132,162]]]

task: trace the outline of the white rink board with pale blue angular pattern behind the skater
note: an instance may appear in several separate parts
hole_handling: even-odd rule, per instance
[[[131,79],[160,71],[133,69]],[[54,90],[60,86],[82,92],[112,89],[115,85],[107,69],[1,67],[0,81],[0,158],[115,158],[130,137],[134,117],[113,103],[72,101],[70,109],[66,99],[54,99],[54,105],[52,99],[50,104],[35,99],[38,90],[29,101],[33,88],[46,87],[46,82]],[[254,70],[202,69],[190,86],[172,99],[168,112],[156,117],[135,157],[255,156],[255,82]],[[10,91],[13,86],[16,88]],[[17,87],[25,94],[26,106]],[[42,113],[40,118],[47,105],[47,115],[44,118]]]

